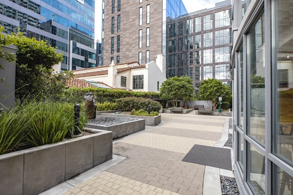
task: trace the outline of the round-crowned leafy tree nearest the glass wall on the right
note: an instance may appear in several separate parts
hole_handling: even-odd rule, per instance
[[[232,92],[229,85],[215,78],[208,78],[199,86],[199,97],[201,100],[211,100],[213,108],[216,108],[219,103],[218,98],[222,97],[222,101],[230,102]]]

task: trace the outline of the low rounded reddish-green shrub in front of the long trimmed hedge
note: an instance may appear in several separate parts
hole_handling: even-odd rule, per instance
[[[119,110],[148,110],[148,105],[150,105],[151,111],[159,112],[161,110],[162,105],[158,101],[154,101],[151,99],[146,98],[135,98],[135,97],[128,97],[128,98],[119,98],[116,99],[117,108]]]

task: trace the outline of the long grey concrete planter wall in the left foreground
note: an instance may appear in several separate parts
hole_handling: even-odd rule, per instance
[[[36,195],[112,159],[112,132],[0,155],[0,194]]]

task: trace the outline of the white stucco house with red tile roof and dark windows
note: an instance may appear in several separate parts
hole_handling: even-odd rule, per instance
[[[75,78],[86,82],[103,82],[112,88],[132,91],[159,92],[166,78],[166,59],[157,55],[156,61],[140,65],[137,61],[73,71]]]

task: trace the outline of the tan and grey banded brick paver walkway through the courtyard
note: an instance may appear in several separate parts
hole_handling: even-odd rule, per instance
[[[225,118],[162,114],[163,125],[114,142],[125,160],[63,195],[201,195],[205,166],[182,159],[194,144],[213,146]]]

